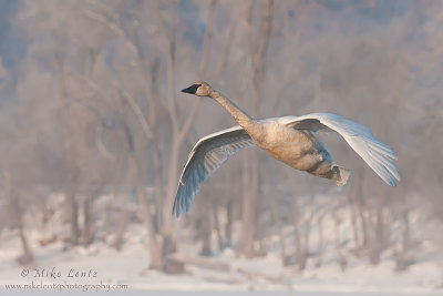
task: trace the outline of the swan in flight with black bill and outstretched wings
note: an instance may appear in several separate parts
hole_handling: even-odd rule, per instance
[[[400,181],[399,169],[394,163],[395,153],[360,123],[330,113],[256,120],[206,82],[196,82],[182,92],[212,98],[239,125],[209,134],[195,144],[178,182],[173,206],[173,215],[177,217],[188,212],[200,184],[229,155],[245,147],[259,146],[296,170],[332,180],[339,186],[344,185],[350,171],[332,161],[316,137],[319,132],[339,133],[387,184],[395,186]]]

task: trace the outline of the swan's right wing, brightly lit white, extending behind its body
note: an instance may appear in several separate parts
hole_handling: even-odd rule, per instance
[[[390,146],[377,140],[370,129],[354,121],[330,113],[312,113],[285,118],[288,126],[312,132],[333,130],[359,154],[389,185],[400,181],[395,165],[396,155]]]

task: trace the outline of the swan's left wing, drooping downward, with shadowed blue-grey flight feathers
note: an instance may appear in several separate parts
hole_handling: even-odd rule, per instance
[[[217,170],[229,155],[240,149],[255,145],[249,134],[241,126],[234,126],[200,139],[189,153],[183,170],[173,215],[187,213],[189,205],[200,188],[200,183]]]

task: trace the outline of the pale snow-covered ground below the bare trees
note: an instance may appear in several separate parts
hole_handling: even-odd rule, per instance
[[[71,295],[81,290],[95,295],[443,295],[442,266],[433,261],[418,262],[403,273],[394,272],[394,262],[389,257],[375,267],[350,262],[344,273],[337,263],[326,261],[319,268],[308,266],[299,273],[282,267],[275,252],[246,261],[227,249],[214,259],[228,262],[229,272],[200,267],[193,267],[185,275],[146,272],[148,253],[144,236],[140,235],[142,227],[132,227],[135,228],[130,233],[138,235],[128,236],[122,252],[103,243],[68,252],[63,252],[61,243],[33,245],[35,264],[30,267],[16,263],[18,239],[3,239],[0,295]],[[32,286],[32,282],[33,288],[11,287]],[[39,286],[42,284],[47,288]]]

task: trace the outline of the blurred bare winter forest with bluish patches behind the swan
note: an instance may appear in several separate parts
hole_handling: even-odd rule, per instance
[[[299,271],[377,265],[387,254],[396,271],[443,266],[442,1],[0,8],[0,249],[20,242],[19,264],[51,244],[124,249],[136,224],[150,254],[140,259],[166,273],[217,265],[207,256],[226,248],[275,252]],[[235,124],[209,99],[179,92],[197,80],[257,118],[331,112],[370,126],[396,152],[400,185],[331,135],[333,157],[352,170],[346,187],[251,149],[173,218],[190,149]]]

